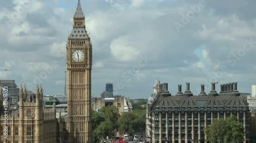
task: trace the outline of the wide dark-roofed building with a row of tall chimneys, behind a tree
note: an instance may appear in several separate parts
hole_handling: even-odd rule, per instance
[[[147,109],[146,137],[149,142],[206,142],[204,129],[212,120],[230,116],[237,116],[244,125],[244,142],[248,140],[250,112],[237,91],[236,82],[222,84],[219,94],[215,91],[215,83],[212,83],[208,95],[201,85],[202,91],[198,96],[189,91],[189,83],[186,83],[184,93],[179,85],[176,96],[169,93],[168,83],[160,84],[159,88],[157,98],[148,104]]]

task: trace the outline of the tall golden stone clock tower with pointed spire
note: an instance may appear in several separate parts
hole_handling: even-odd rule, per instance
[[[67,43],[69,142],[91,143],[92,44],[80,0]]]

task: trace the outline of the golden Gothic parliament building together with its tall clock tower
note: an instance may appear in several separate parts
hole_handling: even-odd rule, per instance
[[[52,109],[44,108],[44,90],[39,85],[35,94],[28,92],[25,85],[20,87],[19,108],[4,112],[7,106],[3,94],[8,89],[0,88],[0,143],[92,142],[92,43],[86,31],[80,0],[66,52],[68,115],[56,119],[55,104]]]

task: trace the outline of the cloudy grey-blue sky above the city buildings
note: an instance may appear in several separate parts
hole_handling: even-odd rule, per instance
[[[81,0],[93,44],[92,96],[147,98],[157,78],[172,95],[190,82],[256,84],[256,2]],[[0,6],[0,79],[63,94],[66,43],[77,0],[10,0]],[[58,52],[63,54],[59,55]],[[6,71],[7,69],[7,71]]]

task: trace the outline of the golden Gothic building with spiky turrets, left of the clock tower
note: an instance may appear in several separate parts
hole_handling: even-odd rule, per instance
[[[1,89],[2,90],[2,89]],[[3,91],[0,96],[3,97]],[[42,88],[36,94],[27,94],[26,87],[19,89],[19,109],[4,112],[0,117],[1,141],[5,143],[57,142],[57,120],[55,107],[44,109]],[[0,101],[3,103],[3,98]],[[2,110],[8,111],[7,106]],[[5,116],[7,113],[8,116]]]

